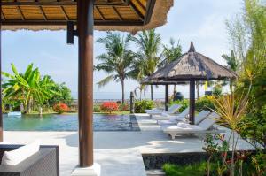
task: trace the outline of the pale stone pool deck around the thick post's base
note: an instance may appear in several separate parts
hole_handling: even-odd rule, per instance
[[[95,132],[94,156],[101,165],[101,176],[145,176],[141,154],[179,153],[202,151],[203,142],[196,136],[177,137],[171,140],[160,131],[160,126],[145,114],[137,114],[141,131]],[[226,129],[225,137],[230,131]],[[4,141],[25,144],[40,139],[42,144],[59,145],[60,175],[70,175],[78,164],[77,132],[11,132],[4,131]],[[239,140],[239,149],[252,149]]]

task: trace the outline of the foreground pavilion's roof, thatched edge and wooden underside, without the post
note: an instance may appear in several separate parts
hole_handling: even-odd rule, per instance
[[[96,0],[95,29],[136,33],[164,25],[173,0]],[[77,19],[74,0],[2,0],[3,30],[60,30]]]

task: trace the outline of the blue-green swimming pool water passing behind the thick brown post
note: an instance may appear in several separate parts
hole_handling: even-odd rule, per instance
[[[139,131],[133,115],[93,115],[94,131]],[[4,114],[6,131],[77,131],[77,114],[22,115]]]

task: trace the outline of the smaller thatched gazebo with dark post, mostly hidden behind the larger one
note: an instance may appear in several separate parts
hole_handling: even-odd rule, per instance
[[[150,77],[145,78],[140,82],[144,85],[162,85],[165,86],[165,111],[169,110],[169,85],[184,85],[186,82],[184,81],[164,81],[157,79],[150,79]]]

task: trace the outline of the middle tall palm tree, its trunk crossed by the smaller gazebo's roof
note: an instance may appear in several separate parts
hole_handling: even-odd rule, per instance
[[[155,33],[155,29],[143,31],[133,37],[133,41],[137,43],[137,62],[135,72],[137,71],[137,80],[141,80],[145,76],[150,76],[160,65],[160,34]],[[151,99],[153,100],[153,85],[151,85]]]

